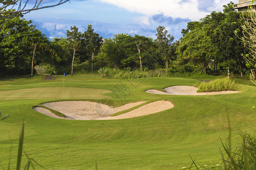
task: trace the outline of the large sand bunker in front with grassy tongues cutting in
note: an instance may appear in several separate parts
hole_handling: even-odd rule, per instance
[[[41,105],[65,114],[67,116],[65,119],[73,120],[116,120],[144,116],[147,114],[165,111],[174,107],[170,101],[160,100],[148,103],[130,112],[120,114],[119,116],[110,116],[111,114],[125,111],[144,102],[145,101],[138,101],[135,103],[125,104],[117,108],[91,101],[57,101],[51,103],[43,103]],[[33,109],[50,117],[63,118],[56,116],[45,108],[34,107]]]

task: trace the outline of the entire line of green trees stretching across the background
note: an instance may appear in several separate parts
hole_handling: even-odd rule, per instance
[[[121,33],[102,39],[88,25],[84,33],[76,26],[67,37],[49,41],[31,21],[18,15],[1,20],[0,76],[57,73],[89,73],[102,67],[132,70],[164,69],[166,73],[250,73],[242,55],[249,53],[242,37],[242,12],[234,3],[222,12],[213,11],[198,22],[189,22],[183,37],[175,41],[164,26],[156,39]],[[8,15],[8,14],[6,14]],[[236,34],[235,34],[236,32]]]

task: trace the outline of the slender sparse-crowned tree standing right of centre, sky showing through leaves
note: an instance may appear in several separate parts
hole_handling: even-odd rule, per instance
[[[162,56],[162,58],[166,61],[166,73],[168,73],[168,60],[171,58],[172,55],[172,47],[171,42],[174,41],[174,36],[171,36],[171,34],[168,34],[168,31],[165,30],[164,26],[160,26],[156,28],[156,31],[158,32],[156,34],[156,45],[158,46],[158,52]]]

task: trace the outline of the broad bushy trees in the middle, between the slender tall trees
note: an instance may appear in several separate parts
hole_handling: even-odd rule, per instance
[[[154,46],[154,41],[148,37],[117,34],[113,39],[104,39],[97,64],[119,69],[139,67],[142,70],[142,66],[150,66],[148,61],[152,62],[155,57]]]

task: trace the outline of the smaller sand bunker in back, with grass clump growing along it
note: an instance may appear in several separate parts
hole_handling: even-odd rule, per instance
[[[163,88],[164,91],[159,91],[155,89],[146,90],[147,93],[150,94],[158,94],[158,95],[222,95],[222,94],[234,94],[240,91],[218,91],[218,92],[199,92],[197,87],[192,86],[171,86]]]

